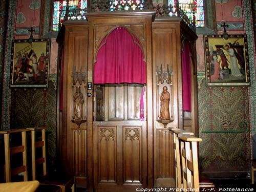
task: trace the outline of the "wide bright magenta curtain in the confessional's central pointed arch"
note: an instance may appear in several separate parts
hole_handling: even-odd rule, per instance
[[[105,38],[94,64],[94,83],[146,83],[146,63],[136,37],[118,27]]]

